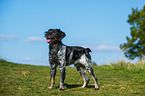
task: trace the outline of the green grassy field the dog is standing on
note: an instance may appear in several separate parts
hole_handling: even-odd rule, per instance
[[[75,68],[66,68],[65,91],[59,91],[60,73],[57,69],[53,89],[46,89],[50,83],[50,67],[23,65],[0,60],[0,95],[16,96],[143,96],[145,94],[145,63],[136,64],[124,61],[103,66],[94,66],[100,90],[94,90],[94,82],[86,88],[79,88],[83,78]]]

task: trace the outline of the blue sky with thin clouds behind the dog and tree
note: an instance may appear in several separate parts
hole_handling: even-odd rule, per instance
[[[60,28],[63,43],[92,49],[98,65],[125,60],[119,45],[130,35],[132,8],[145,0],[0,0],[0,58],[49,65],[44,32]]]

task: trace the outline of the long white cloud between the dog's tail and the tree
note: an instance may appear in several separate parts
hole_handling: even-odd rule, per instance
[[[119,47],[109,45],[88,46],[88,48],[91,48],[95,51],[120,51]]]

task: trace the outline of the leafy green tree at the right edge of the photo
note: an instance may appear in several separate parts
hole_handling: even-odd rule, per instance
[[[145,5],[142,10],[132,8],[128,17],[131,36],[126,36],[127,43],[120,44],[120,48],[127,58],[133,60],[138,57],[141,60],[145,57]]]

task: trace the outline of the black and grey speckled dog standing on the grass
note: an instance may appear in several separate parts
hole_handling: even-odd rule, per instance
[[[56,68],[59,66],[60,69],[60,87],[59,90],[64,90],[65,81],[65,67],[71,64],[77,68],[77,71],[84,79],[84,84],[81,88],[88,85],[90,79],[86,75],[86,69],[94,79],[95,89],[99,90],[97,84],[97,78],[94,75],[93,67],[91,63],[91,56],[89,48],[83,48],[78,46],[66,46],[62,43],[62,39],[66,36],[60,29],[49,29],[45,32],[46,42],[49,43],[49,63],[50,63],[50,86],[47,87],[52,89],[55,81]]]

